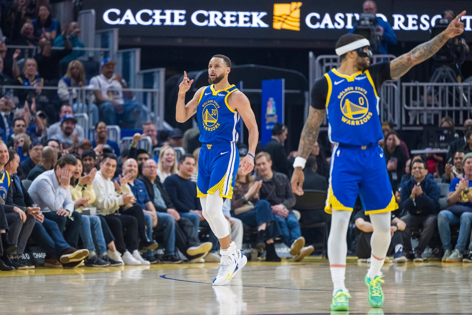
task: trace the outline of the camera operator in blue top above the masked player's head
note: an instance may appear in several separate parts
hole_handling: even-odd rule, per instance
[[[371,0],[364,1],[362,3],[362,12],[365,14],[373,14],[375,16],[377,14],[377,4]],[[396,35],[392,29],[392,26],[390,26],[390,24],[388,24],[388,22],[384,21],[382,18],[375,18],[373,23],[376,34],[371,35],[374,35],[373,37],[378,37],[379,43],[374,45],[374,38],[369,39],[372,46],[372,52],[374,55],[386,55],[388,54],[387,45],[396,45]],[[359,22],[355,23],[354,27],[349,31],[349,33],[358,33],[356,32],[356,29],[357,31],[359,30],[358,24]]]

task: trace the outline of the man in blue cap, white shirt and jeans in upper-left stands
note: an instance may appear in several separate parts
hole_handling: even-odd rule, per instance
[[[135,102],[129,92],[123,93],[127,88],[126,82],[120,75],[115,74],[116,62],[105,58],[101,62],[101,75],[90,80],[90,85],[95,91],[95,103],[100,110],[100,118],[107,125],[118,125],[122,128],[139,129],[146,119],[146,111],[143,104]],[[123,97],[127,94],[126,99]]]

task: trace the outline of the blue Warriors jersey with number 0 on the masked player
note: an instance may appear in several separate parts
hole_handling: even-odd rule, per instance
[[[383,138],[379,119],[379,95],[369,70],[346,76],[330,70],[326,113],[331,142],[363,146]]]

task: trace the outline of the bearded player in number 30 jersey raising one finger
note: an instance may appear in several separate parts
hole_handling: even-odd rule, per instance
[[[215,55],[208,64],[208,83],[185,105],[185,93],[194,80],[184,79],[179,85],[176,119],[184,122],[197,114],[202,149],[198,158],[197,197],[202,215],[219,239],[221,262],[213,285],[227,284],[244,265],[247,258],[236,248],[229,236],[228,222],[223,215],[223,198],[233,196],[239,153],[236,143],[240,136],[240,119],[249,130],[249,150],[242,161],[243,173],[254,167],[254,154],[259,132],[251,104],[235,85],[228,83],[231,60]]]

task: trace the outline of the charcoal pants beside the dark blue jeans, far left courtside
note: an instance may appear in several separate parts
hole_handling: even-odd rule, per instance
[[[20,215],[16,212],[6,213],[8,227],[8,240],[12,244],[16,244],[18,249],[16,255],[21,255],[25,252],[26,242],[31,235],[34,228],[34,216],[26,214],[26,221],[21,220]]]

